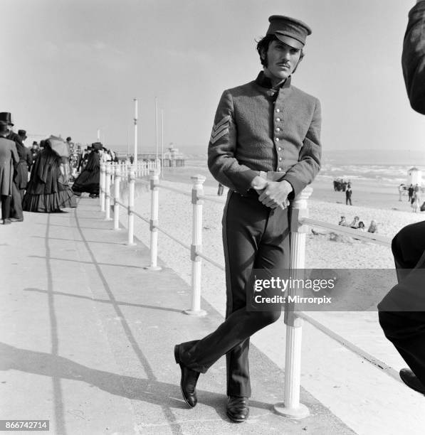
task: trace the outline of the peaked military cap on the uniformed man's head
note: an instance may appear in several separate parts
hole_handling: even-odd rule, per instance
[[[268,18],[267,35],[274,35],[279,41],[290,45],[293,48],[303,48],[305,38],[311,35],[311,28],[303,21],[290,16],[272,15]]]

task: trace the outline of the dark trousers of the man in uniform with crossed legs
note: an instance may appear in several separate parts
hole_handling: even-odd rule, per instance
[[[272,210],[250,191],[229,191],[223,215],[226,320],[201,340],[182,343],[184,365],[204,373],[226,354],[227,395],[250,397],[249,337],[278,320],[280,311],[248,311],[246,282],[252,269],[288,269],[288,209]]]

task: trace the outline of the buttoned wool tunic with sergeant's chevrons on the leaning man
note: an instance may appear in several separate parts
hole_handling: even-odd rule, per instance
[[[283,173],[294,194],[320,170],[320,102],[290,85],[276,92],[261,72],[246,85],[224,91],[208,149],[217,181],[245,193],[259,171]]]

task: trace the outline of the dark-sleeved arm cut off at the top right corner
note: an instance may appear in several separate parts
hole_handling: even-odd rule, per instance
[[[402,67],[412,109],[425,114],[425,0],[409,12],[404,35]]]

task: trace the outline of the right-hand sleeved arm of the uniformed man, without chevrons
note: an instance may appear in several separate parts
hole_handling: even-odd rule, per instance
[[[288,181],[293,188],[293,196],[308,186],[320,171],[320,159],[322,156],[322,145],[320,144],[320,127],[322,125],[322,112],[320,101],[315,100],[313,119],[303,141],[303,148],[300,149],[298,163],[288,170],[283,181]],[[292,195],[290,196],[292,198]]]

